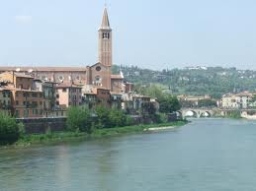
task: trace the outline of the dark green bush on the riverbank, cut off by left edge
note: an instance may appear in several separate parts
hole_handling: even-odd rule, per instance
[[[0,112],[0,144],[12,144],[18,141],[20,136],[19,126],[15,118]]]

